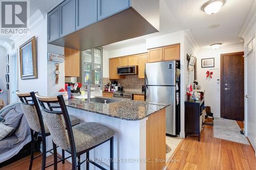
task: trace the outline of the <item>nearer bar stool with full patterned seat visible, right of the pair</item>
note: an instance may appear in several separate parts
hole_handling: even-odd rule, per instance
[[[113,136],[114,130],[111,128],[93,122],[81,123],[71,127],[70,116],[62,95],[57,98],[48,98],[35,94],[36,98],[41,105],[42,115],[44,115],[45,122],[53,140],[53,148],[56,146],[67,151],[72,156],[72,169],[80,169],[80,165],[86,161],[86,169],[89,170],[89,163],[97,166],[100,169],[105,169],[96,162],[90,160],[89,151],[98,147],[100,144],[110,140],[110,169],[113,170]],[[58,104],[59,107],[56,107]],[[48,106],[48,108],[46,108]],[[60,108],[59,110],[54,110]],[[67,130],[61,116],[63,115]],[[54,152],[54,162],[56,163],[57,157]],[[80,156],[86,153],[86,159],[80,161]],[[78,163],[76,161],[78,159]],[[55,166],[56,167],[56,166]],[[56,167],[57,168],[57,167]]]

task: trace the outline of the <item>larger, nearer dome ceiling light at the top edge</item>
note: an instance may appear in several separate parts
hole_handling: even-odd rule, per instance
[[[216,14],[225,4],[225,0],[211,0],[202,6],[202,10],[209,15]]]

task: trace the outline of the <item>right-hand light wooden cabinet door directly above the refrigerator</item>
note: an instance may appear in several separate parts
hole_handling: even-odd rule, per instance
[[[163,60],[180,60],[180,44],[164,46]]]

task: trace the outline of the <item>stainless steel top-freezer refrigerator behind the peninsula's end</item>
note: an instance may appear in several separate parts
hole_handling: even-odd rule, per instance
[[[176,61],[146,63],[145,101],[170,103],[166,108],[166,134],[176,134]]]

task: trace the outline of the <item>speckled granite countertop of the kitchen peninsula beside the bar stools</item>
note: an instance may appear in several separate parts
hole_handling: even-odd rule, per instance
[[[65,101],[67,107],[85,110],[124,120],[140,120],[169,106],[165,103],[144,101],[120,100],[119,102],[102,104],[82,99],[69,99]]]

